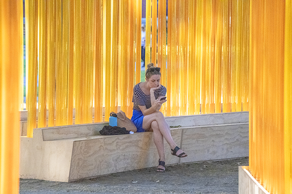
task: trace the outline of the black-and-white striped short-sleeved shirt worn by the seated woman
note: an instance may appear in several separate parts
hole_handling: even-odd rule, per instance
[[[146,106],[146,109],[149,109],[152,106],[150,95],[144,94],[139,84],[140,83],[135,85],[133,98],[132,98],[133,110],[136,110],[136,111],[141,111],[138,105]],[[161,85],[160,88],[154,91],[155,99],[157,99],[158,97],[165,97],[165,95],[166,95],[166,88],[163,85]]]

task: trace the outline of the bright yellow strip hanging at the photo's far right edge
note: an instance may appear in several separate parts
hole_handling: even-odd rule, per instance
[[[292,193],[292,1],[286,0],[284,75],[284,166],[285,193]]]

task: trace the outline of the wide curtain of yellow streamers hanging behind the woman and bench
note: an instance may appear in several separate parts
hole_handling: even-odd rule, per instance
[[[40,18],[40,45],[36,47],[39,56],[31,53],[27,41],[27,53],[31,54],[27,61],[39,58],[38,127],[46,126],[47,109],[48,126],[55,126],[55,122],[73,124],[74,103],[75,124],[91,123],[93,99],[94,122],[102,121],[103,100],[106,120],[111,111],[117,112],[118,103],[130,117],[133,86],[140,82],[141,2],[39,2],[39,14],[30,13]],[[152,3],[151,8],[151,0],[146,1],[146,65],[150,58],[156,62],[158,35],[157,62],[162,72],[161,83],[168,89],[162,112],[220,113],[221,103],[222,112],[230,112],[231,108],[247,111],[249,2],[169,1],[167,45],[166,1],[158,3],[158,34],[153,11],[151,40],[151,9],[157,10],[157,4]],[[33,85],[35,82],[36,79]],[[27,93],[28,98],[33,92]],[[32,101],[36,103],[36,99]],[[29,102],[28,99],[31,110]],[[35,121],[36,118],[29,117],[29,123]]]

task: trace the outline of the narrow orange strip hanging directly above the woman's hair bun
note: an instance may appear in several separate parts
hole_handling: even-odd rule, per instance
[[[159,0],[162,1],[162,0]],[[151,19],[151,63],[156,64],[157,54],[157,0],[152,2],[152,19]]]

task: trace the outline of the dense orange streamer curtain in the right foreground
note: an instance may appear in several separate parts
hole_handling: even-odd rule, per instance
[[[286,96],[291,91],[291,77],[285,77],[291,75],[291,69],[286,68],[291,43],[284,34],[286,25],[287,31],[291,28],[285,23],[289,12],[285,14],[284,1],[252,0],[250,6],[250,171],[268,192],[288,194],[291,178],[285,180],[285,175],[291,172],[285,172],[289,169],[285,159],[291,154],[291,142],[285,138],[289,133],[285,134],[288,123],[284,113],[291,104]],[[290,112],[286,112],[288,117]]]

